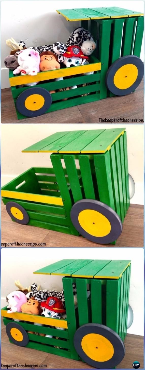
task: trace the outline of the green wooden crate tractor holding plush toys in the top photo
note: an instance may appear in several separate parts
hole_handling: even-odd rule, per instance
[[[144,30],[143,14],[118,7],[57,12],[67,21],[81,21],[81,26],[91,31],[97,44],[96,50],[90,55],[90,64],[87,65],[41,72],[37,76],[14,77],[13,71],[10,71],[9,80],[18,119],[37,117],[114,95],[126,95],[133,92],[142,80],[144,65],[139,57]],[[91,71],[94,74],[83,75]],[[70,78],[54,81],[55,78],[68,76]],[[39,84],[20,87],[32,82]],[[72,85],[82,87],[49,93]],[[63,99],[65,101],[62,102]]]

